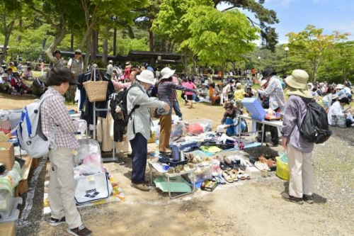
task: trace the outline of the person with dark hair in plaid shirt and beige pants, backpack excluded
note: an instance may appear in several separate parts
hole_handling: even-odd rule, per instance
[[[52,68],[47,77],[48,90],[40,107],[42,133],[46,137],[55,132],[55,142],[50,145],[50,185],[49,201],[50,225],[67,223],[67,231],[72,235],[92,235],[92,231],[82,224],[74,200],[73,153],[79,147],[75,138],[77,124],[73,122],[65,106],[64,94],[69,84],[79,84],[74,74],[67,68]],[[55,131],[56,128],[56,131]]]

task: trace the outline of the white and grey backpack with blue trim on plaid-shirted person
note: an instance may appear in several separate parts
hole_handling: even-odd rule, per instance
[[[30,103],[23,108],[21,120],[16,126],[16,136],[18,144],[25,150],[29,157],[44,157],[49,153],[50,142],[54,142],[57,126],[55,126],[50,137],[47,138],[42,133],[40,123],[40,106],[43,101],[53,95],[43,95],[40,100]]]

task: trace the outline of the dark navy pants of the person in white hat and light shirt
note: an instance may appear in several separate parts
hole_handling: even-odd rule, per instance
[[[144,184],[145,169],[147,169],[147,139],[136,133],[130,140],[132,146],[132,183]]]

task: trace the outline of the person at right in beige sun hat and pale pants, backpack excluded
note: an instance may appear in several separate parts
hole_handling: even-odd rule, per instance
[[[312,99],[307,87],[309,74],[302,69],[295,69],[285,79],[289,99],[285,106],[282,127],[282,147],[287,151],[290,170],[289,193],[282,193],[286,201],[302,204],[303,201],[313,203],[314,170],[311,156],[313,142],[305,141],[299,133],[299,127],[307,113],[307,103],[304,99]]]

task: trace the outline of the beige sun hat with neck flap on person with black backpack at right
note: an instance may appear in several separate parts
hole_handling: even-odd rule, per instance
[[[312,94],[307,87],[309,74],[302,69],[294,69],[292,74],[285,79],[288,85],[287,95],[297,95],[311,99]]]

